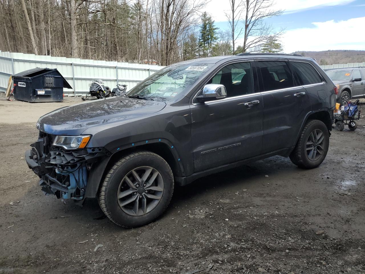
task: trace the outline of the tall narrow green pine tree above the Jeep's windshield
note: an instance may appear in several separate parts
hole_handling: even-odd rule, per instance
[[[202,57],[210,56],[213,43],[218,39],[216,32],[218,28],[214,26],[214,20],[204,12],[201,15],[199,49]]]

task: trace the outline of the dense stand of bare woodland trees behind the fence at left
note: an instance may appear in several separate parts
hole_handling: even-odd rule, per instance
[[[203,1],[0,0],[0,50],[169,65]]]

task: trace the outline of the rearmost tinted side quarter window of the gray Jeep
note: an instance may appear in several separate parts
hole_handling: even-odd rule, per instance
[[[294,61],[291,61],[290,64],[292,65],[296,79],[299,82],[298,84],[311,85],[323,82],[322,78],[311,64]]]

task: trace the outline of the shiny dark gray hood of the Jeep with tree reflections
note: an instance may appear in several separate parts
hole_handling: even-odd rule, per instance
[[[39,118],[38,130],[49,134],[81,134],[86,128],[123,122],[164,109],[166,103],[127,97],[93,100],[54,110]]]

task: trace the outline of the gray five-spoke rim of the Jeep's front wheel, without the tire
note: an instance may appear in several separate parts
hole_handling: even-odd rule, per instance
[[[164,193],[160,172],[149,166],[137,167],[127,173],[118,187],[120,208],[131,216],[142,216],[153,210]]]

